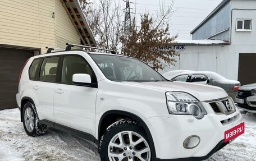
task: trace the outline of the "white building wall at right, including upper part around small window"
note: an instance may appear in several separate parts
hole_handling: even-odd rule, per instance
[[[253,10],[256,9],[256,1],[232,0],[231,2],[231,8],[250,10],[232,10],[230,45],[185,46],[185,49],[180,52],[180,59],[177,59],[176,65],[166,67],[159,72],[171,70],[214,71],[228,79],[237,80],[239,53],[256,54],[256,10]],[[236,19],[252,19],[252,31],[236,31]]]

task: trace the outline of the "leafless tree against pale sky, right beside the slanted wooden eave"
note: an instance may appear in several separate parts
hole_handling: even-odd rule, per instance
[[[99,0],[97,2],[92,4],[88,0],[80,0],[81,7],[97,38],[98,47],[120,50],[123,14],[120,4],[115,0]]]

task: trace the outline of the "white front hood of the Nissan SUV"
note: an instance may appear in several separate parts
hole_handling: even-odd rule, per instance
[[[123,84],[143,86],[145,88],[158,89],[163,91],[183,91],[189,93],[200,101],[220,99],[227,97],[222,88],[211,85],[198,85],[187,82],[121,82]]]

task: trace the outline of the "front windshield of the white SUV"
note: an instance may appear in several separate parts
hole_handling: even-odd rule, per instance
[[[112,81],[166,81],[157,71],[135,58],[90,54],[104,75]]]

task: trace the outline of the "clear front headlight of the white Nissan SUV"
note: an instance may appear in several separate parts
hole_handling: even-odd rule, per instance
[[[166,99],[170,114],[192,115],[197,119],[201,119],[204,114],[207,114],[202,104],[188,93],[168,91]]]

